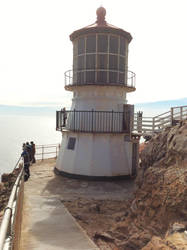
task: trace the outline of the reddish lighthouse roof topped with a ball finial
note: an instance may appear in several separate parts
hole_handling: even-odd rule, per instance
[[[124,36],[128,42],[132,40],[132,36],[130,33],[126,32],[123,29],[120,29],[112,24],[109,24],[105,21],[105,16],[106,16],[106,9],[104,7],[99,7],[96,10],[97,14],[97,20],[95,23],[88,25],[82,29],[75,30],[71,35],[70,35],[70,40],[73,41],[77,37],[81,35],[86,35],[86,34],[93,34],[93,33],[113,33],[116,35],[121,35]]]

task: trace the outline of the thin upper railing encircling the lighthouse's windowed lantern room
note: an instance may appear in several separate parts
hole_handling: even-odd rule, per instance
[[[98,73],[103,73],[102,77]],[[106,73],[106,78],[104,74]],[[113,74],[113,77],[110,75]],[[84,69],[84,70],[67,70],[64,73],[65,86],[82,86],[82,85],[111,85],[111,86],[126,86],[135,88],[136,74],[132,71],[125,72],[112,69]],[[122,77],[121,77],[122,76]]]

